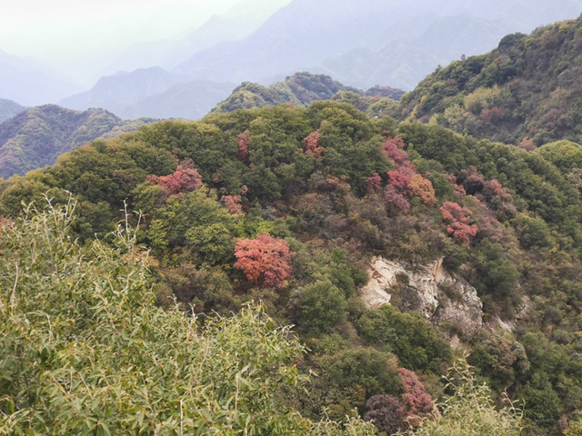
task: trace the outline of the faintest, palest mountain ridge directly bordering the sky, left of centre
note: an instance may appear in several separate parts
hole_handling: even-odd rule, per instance
[[[201,50],[225,41],[237,41],[252,34],[256,28],[287,5],[290,0],[244,0],[233,5],[223,15],[212,16],[204,25],[176,39],[132,45],[105,72],[133,71],[158,65],[165,69],[186,62]]]

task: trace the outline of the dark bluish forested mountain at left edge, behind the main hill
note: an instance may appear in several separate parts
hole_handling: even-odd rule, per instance
[[[103,109],[76,112],[55,104],[27,109],[0,124],[0,177],[53,164],[79,145],[131,132],[152,121],[122,121]]]

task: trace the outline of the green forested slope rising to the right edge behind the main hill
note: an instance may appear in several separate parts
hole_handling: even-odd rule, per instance
[[[395,115],[512,144],[582,142],[582,16],[507,35],[489,54],[429,75]]]

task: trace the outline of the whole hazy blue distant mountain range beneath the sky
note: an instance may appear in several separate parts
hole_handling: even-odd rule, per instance
[[[182,39],[130,47],[105,68],[129,72],[105,75],[86,92],[0,52],[0,98],[196,120],[236,84],[269,86],[296,71],[410,91],[438,65],[580,13],[582,0],[243,0]]]

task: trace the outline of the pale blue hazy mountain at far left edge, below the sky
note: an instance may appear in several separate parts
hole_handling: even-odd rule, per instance
[[[50,71],[33,58],[23,58],[0,50],[0,98],[19,104],[56,103],[81,87]]]

